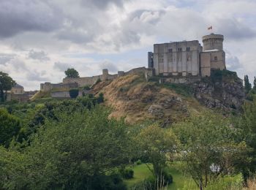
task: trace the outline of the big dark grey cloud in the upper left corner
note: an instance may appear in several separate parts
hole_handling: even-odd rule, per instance
[[[0,37],[23,31],[53,31],[62,23],[62,12],[49,1],[1,0]]]

